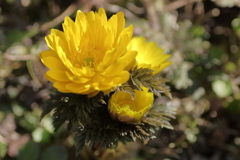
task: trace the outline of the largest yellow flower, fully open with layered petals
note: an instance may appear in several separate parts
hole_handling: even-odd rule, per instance
[[[52,29],[46,37],[50,51],[40,54],[50,69],[45,77],[60,92],[88,95],[125,83],[137,52],[127,50],[133,26],[124,26],[122,12],[108,20],[102,8],[78,11],[75,22],[66,17],[63,32]]]

